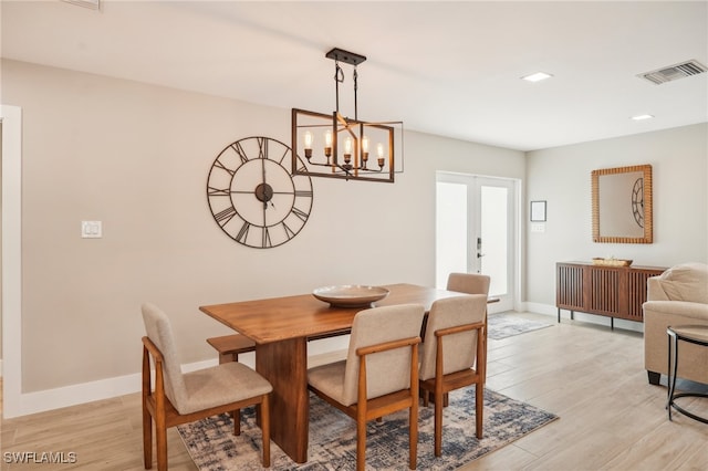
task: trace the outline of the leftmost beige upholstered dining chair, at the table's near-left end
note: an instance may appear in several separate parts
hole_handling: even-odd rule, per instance
[[[181,373],[167,315],[143,304],[147,336],[143,337],[143,453],[153,467],[153,421],[157,438],[157,469],[167,470],[167,429],[256,405],[261,412],[263,467],[270,467],[270,393],[268,380],[248,366],[231,362]],[[155,387],[150,378],[155,365]],[[235,435],[239,435],[235,421]]]

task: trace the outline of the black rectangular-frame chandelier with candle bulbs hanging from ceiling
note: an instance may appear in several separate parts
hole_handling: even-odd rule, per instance
[[[358,119],[356,66],[366,61],[366,56],[334,48],[325,57],[332,59],[335,64],[336,108],[332,114],[292,108],[293,175],[393,182],[396,172],[394,132],[395,126],[403,126],[403,123]],[[353,119],[340,113],[340,83],[344,82],[340,62],[354,67]],[[321,136],[321,142],[317,136]],[[298,160],[298,156],[305,158]]]

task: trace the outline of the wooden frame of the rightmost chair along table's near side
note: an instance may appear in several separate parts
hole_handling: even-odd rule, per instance
[[[487,325],[485,322],[458,325],[449,328],[440,328],[435,331],[436,338],[436,358],[435,358],[435,377],[421,380],[420,389],[423,390],[423,405],[428,405],[429,394],[434,395],[435,404],[435,456],[442,453],[442,406],[447,406],[447,394],[451,390],[475,385],[475,435],[478,439],[482,438],[482,419],[485,406],[485,365],[487,364],[487,352],[483,338],[486,336]],[[455,371],[445,375],[444,342],[448,335],[459,334],[462,332],[477,331],[477,356],[476,367]]]

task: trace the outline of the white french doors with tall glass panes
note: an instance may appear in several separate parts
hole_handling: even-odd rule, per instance
[[[517,184],[506,178],[437,174],[436,284],[450,272],[489,275],[490,312],[513,308]]]

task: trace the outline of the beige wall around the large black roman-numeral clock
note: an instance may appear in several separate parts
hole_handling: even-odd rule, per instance
[[[25,393],[138,371],[144,301],[170,314],[190,363],[214,358],[204,339],[228,332],[201,304],[433,284],[435,170],[525,171],[519,151],[407,133],[396,184],[314,178],[305,228],[256,250],[217,227],[207,172],[239,138],[288,142],[289,109],[14,61],[2,62],[2,101],[22,107]],[[103,221],[103,238],[82,239],[82,220]]]

